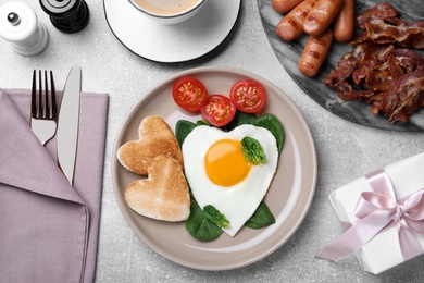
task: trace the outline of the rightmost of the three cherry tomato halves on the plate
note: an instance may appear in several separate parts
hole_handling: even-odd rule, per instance
[[[265,104],[265,88],[257,81],[241,79],[233,85],[229,98],[238,110],[246,113],[258,113]]]

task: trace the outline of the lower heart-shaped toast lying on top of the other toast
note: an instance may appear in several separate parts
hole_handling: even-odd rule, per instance
[[[148,177],[130,183],[125,200],[133,210],[152,219],[183,221],[190,213],[186,179],[178,163],[169,156],[152,160]]]

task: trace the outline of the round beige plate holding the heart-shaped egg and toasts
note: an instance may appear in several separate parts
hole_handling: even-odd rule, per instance
[[[223,233],[216,241],[203,243],[191,237],[184,222],[165,222],[137,214],[125,201],[125,188],[141,179],[116,160],[117,148],[138,139],[138,126],[148,115],[162,116],[171,127],[179,119],[192,120],[175,104],[171,91],[176,79],[200,79],[211,94],[228,94],[242,78],[260,82],[266,90],[266,113],[282,122],[286,138],[265,204],[276,223],[260,230],[242,227],[235,237]],[[229,270],[253,263],[276,250],[299,227],[311,205],[316,183],[316,152],[310,130],[297,107],[276,86],[252,73],[229,67],[188,70],[162,82],[146,94],[129,112],[116,138],[112,159],[113,187],[117,204],[134,232],[154,251],[185,267],[200,270]]]

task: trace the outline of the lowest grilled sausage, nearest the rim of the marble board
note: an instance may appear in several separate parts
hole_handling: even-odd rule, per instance
[[[324,63],[333,41],[333,30],[327,28],[317,36],[310,36],[300,57],[298,69],[305,76],[314,76]]]

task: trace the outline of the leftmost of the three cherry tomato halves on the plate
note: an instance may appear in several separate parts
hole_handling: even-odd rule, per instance
[[[208,90],[199,79],[184,76],[174,84],[172,96],[177,106],[184,110],[196,112],[207,101]]]

